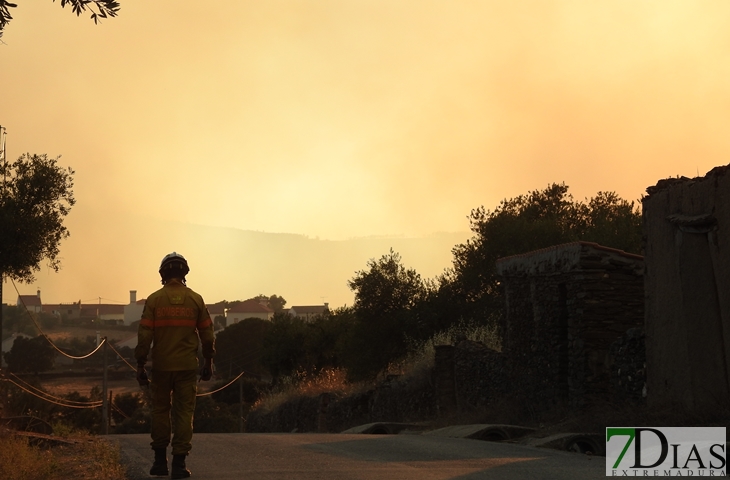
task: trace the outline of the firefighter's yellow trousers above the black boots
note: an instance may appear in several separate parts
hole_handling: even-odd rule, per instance
[[[187,455],[192,448],[195,370],[152,371],[152,448],[167,448],[172,435],[172,454]]]

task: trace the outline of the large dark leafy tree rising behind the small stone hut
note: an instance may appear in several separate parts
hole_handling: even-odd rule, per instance
[[[502,308],[495,262],[552,245],[578,240],[640,253],[641,213],[634,202],[599,192],[575,202],[565,184],[503,200],[494,210],[472,210],[474,236],[457,245],[453,267],[441,278],[437,303],[451,315],[487,322]]]

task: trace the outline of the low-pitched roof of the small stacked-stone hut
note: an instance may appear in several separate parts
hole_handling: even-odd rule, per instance
[[[602,253],[602,258],[598,261],[606,265],[611,262],[643,264],[644,261],[641,255],[604,247],[594,242],[579,241],[500,258],[496,262],[497,273],[503,276],[535,275],[577,270],[584,267],[585,257],[591,253]]]

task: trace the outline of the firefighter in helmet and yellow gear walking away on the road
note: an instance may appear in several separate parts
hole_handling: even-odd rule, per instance
[[[155,460],[150,475],[187,478],[190,470],[185,457],[192,448],[193,412],[197,393],[198,344],[203,345],[205,363],[201,380],[213,374],[215,337],[210,314],[203,298],[188,288],[185,275],[188,262],[172,252],[162,259],[162,288],[147,298],[139,322],[137,348],[137,381],[149,385],[145,363],[152,347],[152,450]],[[172,417],[172,422],[171,422]],[[167,446],[172,435],[172,472],[167,467]]]

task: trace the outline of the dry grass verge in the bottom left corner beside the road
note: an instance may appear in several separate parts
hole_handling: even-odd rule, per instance
[[[3,480],[125,480],[119,449],[99,437],[70,437],[55,447],[33,446],[28,438],[0,431]]]

